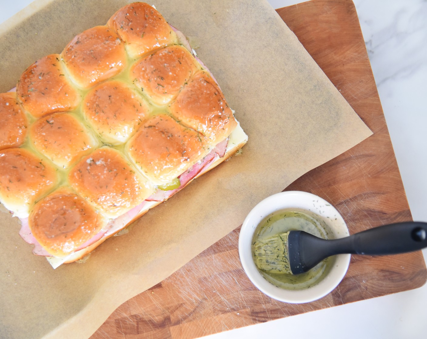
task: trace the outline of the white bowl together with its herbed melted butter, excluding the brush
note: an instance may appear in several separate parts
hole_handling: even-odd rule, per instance
[[[254,256],[257,241],[265,242],[291,230],[303,230],[324,239],[349,235],[339,212],[321,197],[301,191],[274,194],[258,203],[243,222],[239,235],[242,267],[261,292],[276,300],[305,303],[322,298],[344,278],[350,255],[330,257],[301,275],[268,272],[255,264],[259,260]]]

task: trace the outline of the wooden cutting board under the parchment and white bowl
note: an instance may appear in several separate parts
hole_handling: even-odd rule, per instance
[[[365,42],[351,0],[313,0],[277,10],[374,135],[313,169],[284,190],[332,203],[350,233],[412,220]],[[240,265],[236,229],[169,278],[126,301],[92,339],[196,338],[312,310],[421,287],[421,251],[392,257],[352,256],[328,296],[292,305],[260,293]]]

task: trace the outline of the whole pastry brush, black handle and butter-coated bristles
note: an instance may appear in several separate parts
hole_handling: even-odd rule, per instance
[[[402,222],[374,227],[345,238],[326,240],[289,231],[254,243],[258,269],[300,274],[337,254],[390,255],[427,247],[427,223]]]

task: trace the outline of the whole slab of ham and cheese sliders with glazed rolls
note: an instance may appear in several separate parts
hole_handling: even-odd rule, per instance
[[[184,35],[154,7],[131,3],[0,94],[0,201],[56,268],[246,141]]]

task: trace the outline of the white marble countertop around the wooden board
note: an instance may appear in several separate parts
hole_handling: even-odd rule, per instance
[[[0,23],[31,2],[0,0]],[[269,0],[274,8],[298,2]],[[427,2],[354,0],[354,4],[413,219],[427,221]],[[427,250],[423,253],[427,258]],[[427,284],[205,338],[425,338],[426,304]]]

